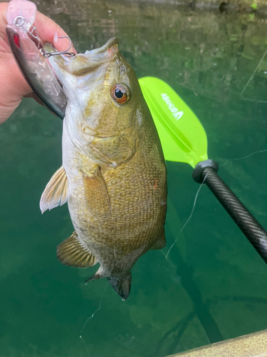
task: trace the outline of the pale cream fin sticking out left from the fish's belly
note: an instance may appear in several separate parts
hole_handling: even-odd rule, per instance
[[[51,210],[57,206],[62,206],[67,201],[68,178],[65,169],[61,166],[58,171],[53,174],[43,191],[40,201],[41,212],[43,213],[47,209]]]

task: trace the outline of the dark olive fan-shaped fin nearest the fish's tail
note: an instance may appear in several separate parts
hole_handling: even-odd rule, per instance
[[[64,265],[76,268],[88,268],[98,263],[95,256],[81,243],[75,231],[58,245],[56,256]]]

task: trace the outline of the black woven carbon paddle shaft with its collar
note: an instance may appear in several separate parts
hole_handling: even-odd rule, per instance
[[[217,174],[218,164],[213,160],[201,161],[193,171],[194,181],[206,183],[214,196],[234,219],[248,241],[267,263],[267,233],[252,216],[234,192]]]

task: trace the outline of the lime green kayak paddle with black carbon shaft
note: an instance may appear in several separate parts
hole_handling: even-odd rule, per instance
[[[206,183],[267,263],[267,233],[219,177],[216,161],[208,159],[206,132],[197,116],[161,79],[143,77],[139,83],[155,121],[164,158],[192,166],[194,181]]]

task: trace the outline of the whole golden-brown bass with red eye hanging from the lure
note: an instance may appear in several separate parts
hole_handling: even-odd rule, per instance
[[[125,300],[137,259],[166,245],[167,170],[157,129],[117,39],[50,62],[68,105],[63,164],[43,191],[41,212],[68,202],[75,231],[58,245],[59,261],[99,263],[88,281],[108,278]]]

